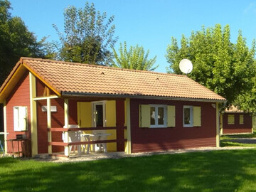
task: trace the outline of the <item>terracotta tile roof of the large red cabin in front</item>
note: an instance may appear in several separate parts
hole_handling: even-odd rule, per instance
[[[40,76],[60,94],[65,92],[81,95],[138,95],[225,100],[225,98],[220,97],[220,95],[185,75],[34,58],[21,58],[21,63]]]

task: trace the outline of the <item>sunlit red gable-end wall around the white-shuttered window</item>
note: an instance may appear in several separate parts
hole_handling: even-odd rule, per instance
[[[31,141],[31,110],[30,110],[30,91],[29,91],[29,75],[28,71],[24,73],[21,80],[18,81],[16,87],[11,92],[9,97],[6,98],[6,127],[7,127],[7,140],[16,139],[16,134],[26,134],[26,137]],[[17,132],[14,131],[14,107],[26,106],[28,112],[28,131]],[[12,152],[11,142],[7,142],[7,152]],[[29,142],[29,151],[31,151],[31,142]],[[21,149],[21,148],[20,148]],[[18,145],[14,142],[14,151],[18,151]]]

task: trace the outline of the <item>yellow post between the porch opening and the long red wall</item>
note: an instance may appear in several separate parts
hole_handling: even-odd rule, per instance
[[[130,99],[127,98],[125,101],[126,101],[126,124],[127,124],[127,144],[125,146],[125,152],[127,154],[132,154]]]

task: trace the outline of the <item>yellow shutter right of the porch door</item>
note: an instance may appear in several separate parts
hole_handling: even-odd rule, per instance
[[[106,102],[106,127],[116,127],[116,102]]]

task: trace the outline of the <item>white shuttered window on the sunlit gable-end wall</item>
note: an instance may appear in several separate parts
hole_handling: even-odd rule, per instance
[[[14,131],[26,131],[27,128],[27,107],[14,107]]]

